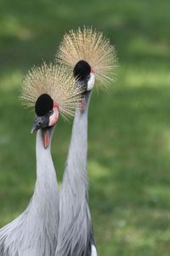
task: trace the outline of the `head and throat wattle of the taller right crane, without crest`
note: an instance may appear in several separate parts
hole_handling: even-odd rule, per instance
[[[73,69],[73,73],[74,77],[77,79],[77,87],[81,87],[83,91],[80,109],[84,112],[87,107],[89,92],[94,88],[94,70],[87,61],[78,61]]]

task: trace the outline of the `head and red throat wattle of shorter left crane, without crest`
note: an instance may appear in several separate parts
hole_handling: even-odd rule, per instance
[[[59,119],[59,108],[53,99],[45,93],[37,98],[35,111],[37,117],[32,126],[31,133],[42,129],[43,147],[48,148],[50,140],[49,130]]]

